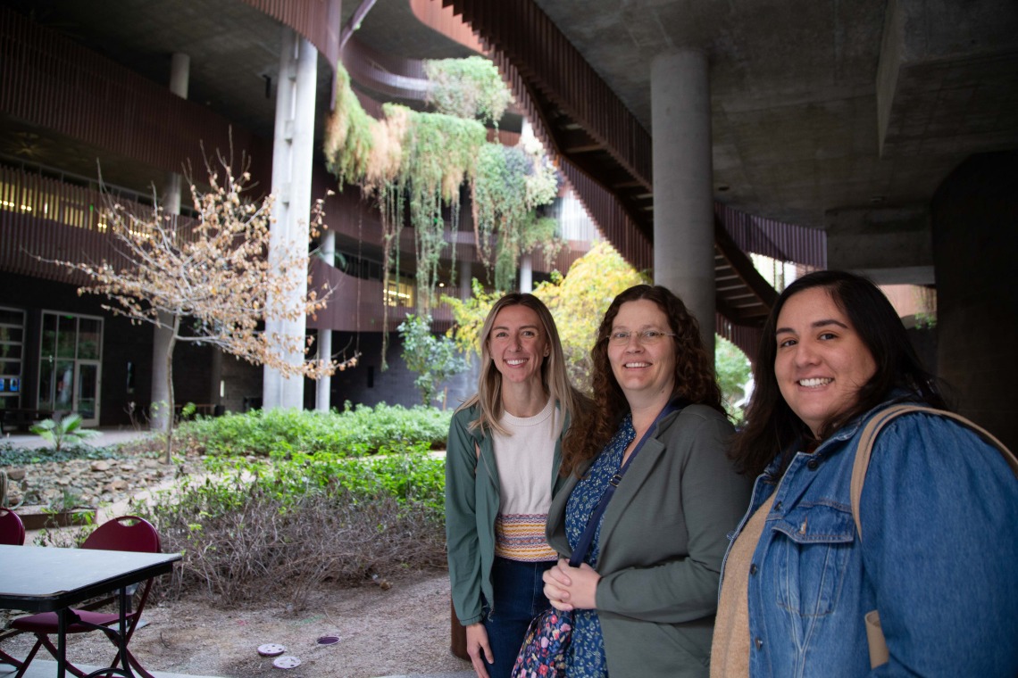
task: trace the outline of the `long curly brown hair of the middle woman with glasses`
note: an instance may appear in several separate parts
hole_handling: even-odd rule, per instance
[[[700,338],[699,323],[675,294],[660,285],[636,285],[612,301],[598,328],[598,338],[590,350],[593,363],[591,385],[593,400],[577,414],[562,444],[561,474],[568,476],[580,465],[596,457],[618,430],[619,422],[629,412],[629,403],[619,386],[608,360],[608,338],[615,316],[623,304],[646,299],[658,305],[675,333],[675,385],[672,398],[688,404],[706,405],[725,414],[721,389],[714,375],[714,360]]]

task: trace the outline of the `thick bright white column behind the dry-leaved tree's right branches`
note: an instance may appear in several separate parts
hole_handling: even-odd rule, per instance
[[[315,94],[317,86],[318,52],[292,29],[283,28],[283,48],[279,64],[279,90],[276,94],[276,126],[272,156],[272,192],[276,196],[269,242],[269,262],[307,251],[307,223],[312,208],[312,158],[315,150]],[[306,271],[292,271],[295,289],[284,303],[296,303],[307,296]],[[270,298],[270,306],[278,300]],[[270,336],[304,341],[306,318],[271,320],[266,322]],[[302,353],[285,356],[298,365]],[[303,377],[285,377],[279,370],[265,368],[263,406],[272,408],[302,408]]]

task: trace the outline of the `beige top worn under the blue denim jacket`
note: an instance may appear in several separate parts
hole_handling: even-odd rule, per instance
[[[728,554],[714,623],[711,678],[749,676],[749,565],[773,503],[772,494],[750,516]]]

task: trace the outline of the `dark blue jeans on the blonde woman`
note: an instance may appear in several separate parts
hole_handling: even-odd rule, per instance
[[[495,604],[485,606],[484,620],[488,642],[495,655],[495,663],[488,665],[491,678],[509,678],[530,620],[551,607],[545,598],[541,575],[554,564],[554,560],[528,563],[495,558],[492,566]]]

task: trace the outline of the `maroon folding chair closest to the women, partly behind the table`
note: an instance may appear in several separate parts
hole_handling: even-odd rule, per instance
[[[99,526],[99,528],[97,528],[96,531],[89,535],[89,537],[84,540],[81,548],[103,549],[106,551],[160,553],[161,543],[159,533],[156,532],[154,527],[152,527],[152,523],[144,518],[137,517],[136,515],[124,515],[112,518],[111,520]],[[145,678],[153,678],[152,674],[142,667],[138,661],[127,649],[127,643],[130,642],[130,637],[133,635],[137,622],[142,618],[142,611],[145,609],[145,602],[149,598],[149,591],[151,589],[152,579],[149,579],[142,584],[142,595],[138,599],[137,605],[133,609],[128,609],[127,611],[127,623],[122,640],[118,637],[117,630],[114,630],[119,628],[120,615],[118,613],[94,612],[92,610],[71,611],[77,617],[78,621],[67,625],[67,633],[88,633],[89,631],[97,630],[104,631],[107,637],[109,637],[110,640],[117,645],[117,654],[113,658],[113,663],[110,664],[109,675],[112,675],[114,670],[120,671],[116,669],[116,667],[118,664],[122,664],[123,658],[121,657],[121,653],[123,653],[123,656],[126,657],[131,667],[133,667],[139,675],[145,676]],[[35,659],[40,648],[46,648],[46,650],[53,655],[54,658],[58,657],[58,650],[50,639],[50,635],[55,635],[58,632],[57,614],[55,612],[43,612],[26,617],[18,617],[12,621],[10,625],[11,628],[19,631],[35,633],[37,638],[36,644],[32,648],[32,652],[29,653],[29,656],[24,658],[24,662],[21,663],[21,667],[15,678],[21,678],[24,675],[25,671],[29,669],[29,665],[32,663],[32,660]],[[67,671],[75,676],[78,676],[78,678],[84,678],[87,675],[90,675],[72,665],[70,662],[67,662]]]

